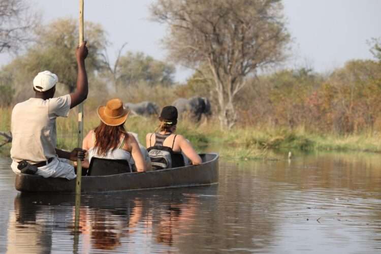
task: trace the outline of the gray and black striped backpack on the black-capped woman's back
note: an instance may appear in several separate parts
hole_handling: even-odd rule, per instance
[[[172,168],[172,149],[166,146],[151,146],[147,149],[153,170]]]

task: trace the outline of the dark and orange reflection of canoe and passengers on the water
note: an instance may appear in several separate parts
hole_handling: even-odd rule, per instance
[[[217,186],[209,186],[161,190],[160,195],[148,190],[82,196],[78,251],[122,247],[135,252],[150,245],[176,250],[172,245],[194,220],[202,195],[216,192]],[[74,195],[18,194],[10,214],[8,252],[72,251],[72,245],[61,245],[55,236],[74,236],[74,205]]]

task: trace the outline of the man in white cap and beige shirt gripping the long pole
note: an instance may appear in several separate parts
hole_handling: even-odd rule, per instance
[[[40,72],[33,80],[35,97],[18,103],[13,108],[11,168],[15,173],[19,174],[19,169],[25,169],[21,166],[27,165],[28,169],[33,169],[32,173],[45,178],[76,178],[74,167],[62,158],[77,161],[77,158],[84,158],[85,151],[74,148],[73,151],[67,152],[56,148],[55,119],[58,116],[67,117],[71,108],[87,98],[87,53],[86,42],[76,49],[78,76],[75,92],[54,98],[57,76],[49,71]]]

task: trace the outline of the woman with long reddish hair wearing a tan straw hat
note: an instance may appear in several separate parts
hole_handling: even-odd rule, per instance
[[[134,161],[138,172],[146,171],[146,165],[139,144],[133,135],[124,129],[124,122],[129,111],[123,109],[120,99],[112,99],[106,106],[97,110],[101,123],[91,130],[83,140],[84,149],[88,150],[88,161],[83,167],[88,168],[92,157],[114,160]],[[132,157],[132,158],[131,158]],[[133,159],[133,160],[132,160]]]

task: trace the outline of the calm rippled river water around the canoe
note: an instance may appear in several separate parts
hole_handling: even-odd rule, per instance
[[[381,253],[381,158],[220,159],[209,187],[20,194],[0,158],[0,252]]]

